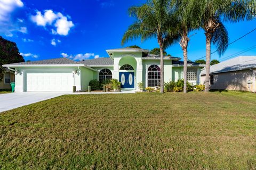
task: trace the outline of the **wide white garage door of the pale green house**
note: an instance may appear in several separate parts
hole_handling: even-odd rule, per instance
[[[72,91],[72,71],[27,73],[27,91]]]

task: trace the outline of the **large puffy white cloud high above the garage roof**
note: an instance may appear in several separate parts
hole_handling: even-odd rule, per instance
[[[67,36],[70,29],[74,27],[73,22],[68,19],[70,19],[69,15],[65,16],[60,12],[54,13],[52,10],[44,10],[44,14],[37,11],[36,15],[31,16],[31,20],[39,26],[45,27],[54,23],[53,26],[56,29],[51,29],[52,34],[61,36]]]

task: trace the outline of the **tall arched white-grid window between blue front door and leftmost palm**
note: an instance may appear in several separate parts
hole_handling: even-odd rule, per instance
[[[159,87],[161,80],[161,69],[157,65],[148,68],[148,87]]]

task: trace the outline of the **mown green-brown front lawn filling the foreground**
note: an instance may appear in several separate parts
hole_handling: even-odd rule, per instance
[[[0,114],[0,169],[255,169],[256,94],[68,95]]]

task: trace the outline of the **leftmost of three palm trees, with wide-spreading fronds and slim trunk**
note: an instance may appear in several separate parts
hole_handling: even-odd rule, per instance
[[[164,58],[163,52],[167,46],[178,40],[178,35],[168,33],[167,29],[172,24],[172,12],[169,8],[168,0],[150,0],[142,6],[129,8],[130,16],[134,16],[135,21],[124,33],[122,45],[129,40],[140,38],[141,41],[156,38],[160,48],[161,67],[161,89],[164,92]]]

